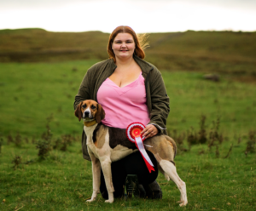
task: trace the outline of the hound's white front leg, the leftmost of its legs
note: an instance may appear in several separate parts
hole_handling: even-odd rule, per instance
[[[90,153],[91,165],[92,165],[92,183],[93,192],[90,200],[87,202],[93,202],[96,200],[98,193],[100,192],[100,182],[101,182],[101,163],[98,158],[96,158],[92,153]]]

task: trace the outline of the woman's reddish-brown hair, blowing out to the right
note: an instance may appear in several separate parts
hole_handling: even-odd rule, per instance
[[[133,31],[131,29],[131,27],[129,27],[129,26],[118,26],[113,30],[113,32],[109,36],[108,48],[107,48],[109,59],[113,59],[114,62],[116,61],[115,60],[115,54],[113,53],[113,49],[112,49],[112,44],[113,44],[114,38],[119,33],[129,33],[129,34],[131,34],[131,36],[133,37],[133,40],[135,42],[134,54],[136,54],[139,58],[144,59],[145,58],[144,49],[149,46],[149,44],[147,42],[148,35],[147,34],[137,35],[135,33],[135,31]]]

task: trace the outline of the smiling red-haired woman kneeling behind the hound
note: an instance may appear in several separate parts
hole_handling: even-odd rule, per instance
[[[146,125],[142,132],[146,138],[166,134],[164,128],[170,111],[169,98],[160,71],[143,60],[143,47],[145,43],[139,42],[131,27],[117,27],[109,37],[109,59],[91,66],[87,71],[75,97],[74,109],[82,100],[96,100],[106,112],[102,123],[107,126],[127,128],[130,123],[140,122]],[[90,160],[84,131],[82,149],[84,159]],[[148,156],[156,166],[154,156],[149,152]],[[112,163],[112,173],[114,197],[122,196],[126,174],[137,174],[148,197],[151,197],[152,189],[153,192],[154,189],[160,192],[160,187],[153,182],[157,169],[149,174],[139,152]],[[104,190],[102,180],[102,197],[108,197]]]

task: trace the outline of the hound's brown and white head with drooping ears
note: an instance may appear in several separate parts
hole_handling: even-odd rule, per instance
[[[105,118],[105,111],[102,106],[94,100],[80,102],[74,113],[79,118],[79,121],[83,118],[84,122],[96,120],[96,123],[101,123],[102,119]]]

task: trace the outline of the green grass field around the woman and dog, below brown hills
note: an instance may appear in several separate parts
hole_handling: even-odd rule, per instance
[[[87,203],[92,193],[91,164],[82,158],[79,136],[82,123],[73,115],[73,100],[86,70],[96,60],[53,63],[0,63],[0,210],[255,210],[256,86],[224,75],[219,83],[206,81],[201,72],[161,70],[170,97],[167,128],[183,135],[176,157],[177,173],[186,182],[189,204],[179,208],[176,185],[159,175],[163,199],[132,198],[106,204],[101,196]],[[207,117],[207,139],[220,118],[222,144],[192,145],[191,127],[200,129]],[[71,134],[38,159],[35,140],[42,140],[46,124],[55,141]],[[248,133],[252,131],[253,137]],[[251,134],[253,134],[251,133]],[[20,134],[21,143],[17,146]],[[13,141],[10,141],[10,138]],[[247,150],[247,141],[254,143]],[[230,145],[232,145],[231,151]],[[245,151],[247,150],[247,155]],[[21,157],[15,166],[15,156]],[[226,157],[226,158],[224,158]]]

